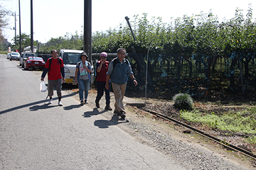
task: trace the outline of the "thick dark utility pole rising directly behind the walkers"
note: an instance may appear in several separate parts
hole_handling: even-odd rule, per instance
[[[87,53],[89,62],[92,63],[92,0],[84,0],[84,52]],[[92,73],[91,73],[92,74]],[[91,78],[90,87],[92,87]]]

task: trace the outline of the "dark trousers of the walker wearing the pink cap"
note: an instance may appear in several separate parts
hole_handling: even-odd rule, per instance
[[[96,85],[97,85],[97,97],[96,97],[96,100],[95,102],[99,102],[101,97],[103,96],[104,94],[104,91],[105,91],[105,97],[106,97],[106,104],[109,105],[110,103],[110,95],[109,95],[109,92],[110,92],[110,88],[107,90],[105,85],[106,85],[106,81],[96,81]],[[109,83],[110,85],[110,83]]]

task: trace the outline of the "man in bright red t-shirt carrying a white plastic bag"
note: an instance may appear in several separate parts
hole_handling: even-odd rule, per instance
[[[41,76],[41,81],[44,81],[45,75],[48,72],[48,96],[50,97],[49,104],[52,104],[52,96],[54,85],[56,85],[56,91],[59,98],[58,105],[63,106],[61,103],[61,86],[65,81],[64,64],[61,58],[58,58],[58,52],[52,50],[52,57],[47,60],[44,67],[44,72]]]

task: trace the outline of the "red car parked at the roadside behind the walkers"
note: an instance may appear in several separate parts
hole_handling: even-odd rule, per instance
[[[44,69],[45,62],[41,57],[28,57],[24,63],[24,69]]]

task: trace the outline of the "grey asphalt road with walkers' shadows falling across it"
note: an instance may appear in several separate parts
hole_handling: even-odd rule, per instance
[[[54,91],[47,105],[39,89],[39,74],[0,55],[0,169],[185,169],[116,125],[100,128],[111,122],[73,94],[58,106]]]

